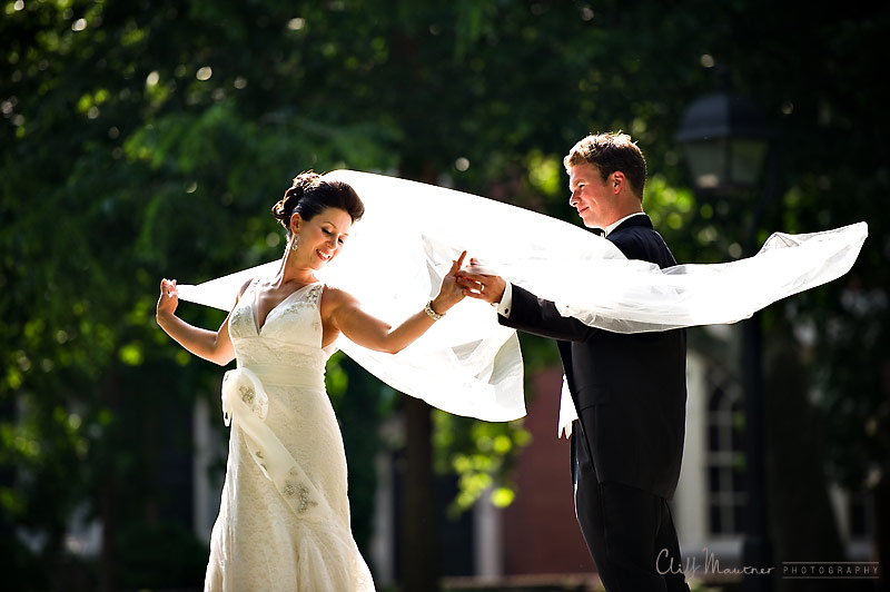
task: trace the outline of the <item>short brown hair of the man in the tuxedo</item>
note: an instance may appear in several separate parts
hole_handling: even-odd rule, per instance
[[[590,162],[594,165],[603,180],[620,170],[631,184],[631,191],[643,199],[643,187],[646,184],[646,159],[643,151],[631,137],[621,131],[614,134],[592,134],[578,140],[563,158],[563,166],[568,170],[575,165]]]

